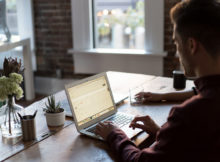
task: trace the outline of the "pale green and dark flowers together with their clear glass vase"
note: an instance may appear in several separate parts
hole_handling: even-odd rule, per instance
[[[3,73],[0,77],[0,101],[6,100],[6,104],[1,108],[5,111],[5,122],[1,124],[2,136],[18,137],[22,135],[21,122],[16,114],[22,107],[15,104],[14,98],[23,97],[23,90],[20,84],[23,81],[21,73],[21,60],[11,57],[5,58],[3,63]]]

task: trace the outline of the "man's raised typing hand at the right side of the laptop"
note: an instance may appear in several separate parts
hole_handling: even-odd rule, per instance
[[[140,124],[139,122],[142,123]],[[129,127],[133,129],[140,128],[151,135],[156,135],[157,131],[160,129],[160,127],[148,115],[135,117]]]

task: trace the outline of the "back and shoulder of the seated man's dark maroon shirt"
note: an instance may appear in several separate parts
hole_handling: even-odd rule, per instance
[[[173,108],[154,150],[178,161],[220,161],[220,76],[200,78],[195,84],[199,94]]]

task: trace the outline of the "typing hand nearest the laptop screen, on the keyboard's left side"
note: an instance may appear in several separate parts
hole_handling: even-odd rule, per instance
[[[104,140],[106,140],[111,131],[117,128],[118,127],[114,125],[112,122],[104,121],[97,124],[95,133],[101,136]]]

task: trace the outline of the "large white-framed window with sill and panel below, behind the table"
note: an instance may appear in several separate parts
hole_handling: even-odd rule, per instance
[[[164,0],[71,0],[71,6],[73,49],[69,53],[73,54],[75,73],[163,74]],[[132,9],[134,15],[140,12],[143,17],[133,30],[126,23],[110,21],[112,15],[125,16]],[[143,37],[132,34],[137,28]]]

